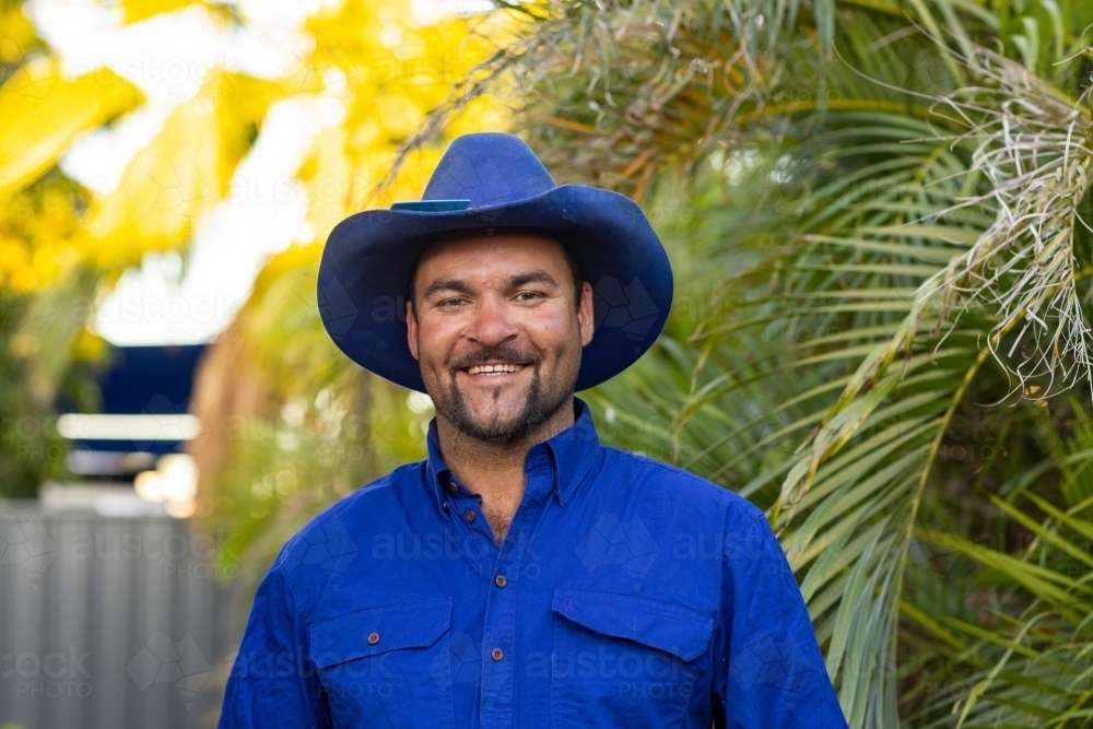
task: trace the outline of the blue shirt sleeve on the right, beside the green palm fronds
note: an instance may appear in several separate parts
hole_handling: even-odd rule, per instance
[[[726,540],[715,727],[845,729],[800,588],[766,518]],[[739,533],[739,532],[738,532]]]

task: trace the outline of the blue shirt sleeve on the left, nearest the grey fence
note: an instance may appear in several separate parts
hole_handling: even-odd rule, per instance
[[[274,562],[255,595],[224,691],[220,729],[330,727],[292,589]]]

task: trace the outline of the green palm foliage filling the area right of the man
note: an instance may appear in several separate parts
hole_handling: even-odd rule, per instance
[[[851,727],[1089,725],[1093,5],[518,8],[520,130],[675,267],[607,437],[767,509]]]

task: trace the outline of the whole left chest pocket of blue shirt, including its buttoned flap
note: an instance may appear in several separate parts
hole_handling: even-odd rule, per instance
[[[338,727],[454,727],[451,598],[403,602],[312,626],[312,661]]]

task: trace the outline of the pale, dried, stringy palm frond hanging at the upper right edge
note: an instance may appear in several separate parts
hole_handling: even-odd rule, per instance
[[[1016,330],[1004,353],[995,354],[1002,362],[1016,355],[1011,371],[1021,391],[1038,378],[1049,380],[1049,391],[1082,380],[1093,386],[1093,330],[1074,254],[1076,227],[1089,228],[1080,208],[1093,184],[1090,90],[1074,101],[1016,61],[972,50],[963,60],[978,85],[949,94],[935,108],[951,110],[954,126],[968,127],[953,143],[975,143],[969,173],[990,180],[986,192],[954,210],[988,209],[995,221],[930,283],[947,303],[988,307],[995,334]]]

